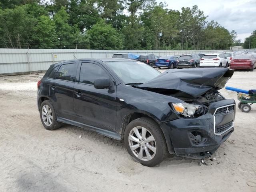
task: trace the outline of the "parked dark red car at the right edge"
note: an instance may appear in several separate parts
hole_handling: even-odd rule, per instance
[[[251,54],[236,55],[234,59],[230,61],[230,69],[247,69],[253,71],[256,67],[256,59]]]

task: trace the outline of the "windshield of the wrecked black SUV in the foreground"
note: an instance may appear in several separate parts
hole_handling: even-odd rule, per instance
[[[105,62],[125,84],[145,83],[161,74],[158,70],[136,61]]]

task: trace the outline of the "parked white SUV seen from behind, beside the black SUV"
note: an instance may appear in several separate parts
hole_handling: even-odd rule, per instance
[[[228,60],[220,53],[206,54],[200,60],[200,67],[228,67]]]

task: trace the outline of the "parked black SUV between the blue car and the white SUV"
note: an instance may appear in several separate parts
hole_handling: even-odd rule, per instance
[[[183,54],[177,60],[177,69],[179,68],[196,68],[200,65],[200,56],[198,54]]]

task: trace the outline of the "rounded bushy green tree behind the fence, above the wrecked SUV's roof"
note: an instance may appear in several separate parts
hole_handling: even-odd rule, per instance
[[[120,49],[124,44],[123,35],[104,20],[97,22],[87,32],[92,49]]]

